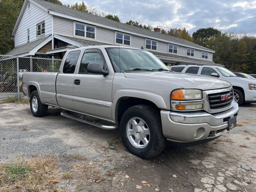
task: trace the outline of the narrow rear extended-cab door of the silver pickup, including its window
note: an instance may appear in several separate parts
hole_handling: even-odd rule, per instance
[[[62,71],[56,79],[56,99],[61,108],[75,110],[73,103],[73,84],[75,69],[81,51],[69,52]]]

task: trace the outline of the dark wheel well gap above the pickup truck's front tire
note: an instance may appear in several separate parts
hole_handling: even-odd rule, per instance
[[[116,109],[116,117],[118,122],[120,123],[121,117],[123,116],[124,112],[135,105],[149,105],[152,106],[154,108],[156,108],[159,111],[159,115],[160,115],[160,109],[156,106],[155,103],[153,103],[152,101],[146,100],[146,99],[140,99],[140,98],[135,98],[135,97],[123,97],[120,98],[117,102],[117,109]]]

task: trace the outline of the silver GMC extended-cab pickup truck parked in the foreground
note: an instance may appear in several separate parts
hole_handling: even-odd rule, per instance
[[[214,140],[238,118],[230,83],[172,72],[141,49],[73,49],[59,73],[24,72],[22,81],[34,116],[47,115],[50,105],[63,109],[62,116],[119,128],[124,146],[141,158],[161,153],[166,140],[180,147]]]

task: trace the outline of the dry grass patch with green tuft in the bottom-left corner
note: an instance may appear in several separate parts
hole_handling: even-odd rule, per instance
[[[0,164],[0,191],[61,191],[58,182],[58,159],[34,156],[28,160]]]

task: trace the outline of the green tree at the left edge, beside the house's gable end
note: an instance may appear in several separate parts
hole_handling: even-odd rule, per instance
[[[0,54],[5,54],[14,47],[12,29],[19,15],[22,0],[0,1]]]

